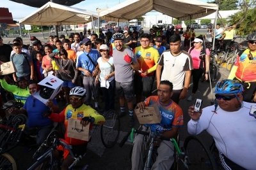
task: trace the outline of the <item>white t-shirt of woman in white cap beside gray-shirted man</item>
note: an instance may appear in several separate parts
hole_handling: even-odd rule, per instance
[[[98,64],[99,64],[99,69],[100,69],[100,80],[104,80],[104,78],[112,73],[114,71],[114,65],[113,65],[113,57],[109,57],[108,62],[106,62],[106,60],[102,59],[102,57],[99,57],[99,59],[97,60]],[[112,66],[111,66],[111,65]],[[115,75],[111,76],[108,81],[112,81],[115,79]]]

